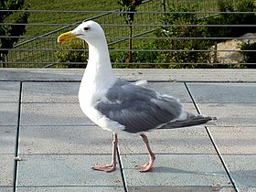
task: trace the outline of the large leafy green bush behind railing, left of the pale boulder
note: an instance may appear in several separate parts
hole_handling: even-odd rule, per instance
[[[193,39],[187,37],[208,37],[206,27],[200,27],[202,21],[197,18],[197,14],[191,13],[195,7],[181,7],[172,5],[170,12],[163,16],[163,23],[170,25],[156,32],[156,37],[171,37],[166,39],[158,39],[157,47],[162,50],[171,49],[171,51],[162,51],[157,58],[158,62],[175,63],[170,64],[169,68],[196,68],[208,67],[208,65],[191,65],[190,63],[208,63],[212,55],[208,48],[213,45],[211,40]],[[189,13],[178,13],[189,12]],[[172,26],[173,25],[173,26]],[[181,26],[179,26],[181,25]],[[197,27],[189,27],[189,25],[197,25]],[[172,38],[177,37],[177,38]],[[186,38],[183,38],[186,37]],[[187,64],[178,64],[187,63]]]

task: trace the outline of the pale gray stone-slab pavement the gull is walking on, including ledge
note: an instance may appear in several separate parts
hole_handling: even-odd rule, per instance
[[[148,160],[144,143],[127,135],[115,172],[91,170],[110,163],[112,133],[80,111],[82,69],[65,70],[0,71],[0,191],[256,191],[254,70],[201,69],[198,79],[190,69],[116,70],[219,117],[218,125],[148,133],[156,161],[144,174],[134,167]]]

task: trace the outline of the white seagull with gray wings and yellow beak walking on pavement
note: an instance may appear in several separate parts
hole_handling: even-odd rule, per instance
[[[142,137],[149,161],[139,166],[139,171],[148,172],[153,168],[155,153],[145,133],[157,129],[196,126],[216,120],[215,117],[186,112],[180,101],[172,96],[116,78],[106,37],[98,23],[83,22],[72,31],[61,34],[58,41],[64,42],[75,37],[85,40],[89,46],[88,64],[80,82],[80,108],[93,123],[112,132],[113,138],[111,164],[96,164],[92,169],[104,172],[116,169],[119,133],[138,134]]]

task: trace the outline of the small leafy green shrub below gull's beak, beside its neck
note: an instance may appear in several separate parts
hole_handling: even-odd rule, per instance
[[[88,53],[85,52],[85,44],[80,39],[72,39],[61,44],[63,51],[57,51],[56,56],[58,62],[86,62],[88,59]],[[74,50],[72,50],[74,49]],[[57,68],[85,68],[86,64],[60,64]]]

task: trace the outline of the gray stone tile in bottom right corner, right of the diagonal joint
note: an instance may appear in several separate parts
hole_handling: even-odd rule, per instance
[[[236,185],[243,189],[241,191],[256,188],[256,155],[223,155],[223,158]]]

